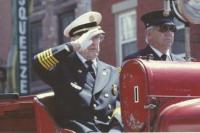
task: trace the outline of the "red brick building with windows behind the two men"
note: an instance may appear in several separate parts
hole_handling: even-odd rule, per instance
[[[0,66],[6,66],[7,91],[16,91],[16,46],[13,38],[13,1],[0,1]],[[101,45],[100,58],[114,66],[120,66],[124,56],[145,47],[144,25],[140,17],[145,12],[163,9],[158,0],[33,0],[30,16],[31,55],[59,45],[67,39],[63,29],[76,16],[94,10],[102,13],[102,27],[106,37]],[[176,21],[178,32],[173,52],[184,56],[184,25]],[[191,55],[200,60],[200,26],[191,25]],[[31,92],[49,88],[31,75]],[[1,88],[3,88],[1,86]]]

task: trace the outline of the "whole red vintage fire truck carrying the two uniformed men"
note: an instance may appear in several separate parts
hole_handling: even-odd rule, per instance
[[[174,11],[185,23],[200,24],[198,5],[198,0],[166,0],[165,11]],[[125,131],[200,131],[200,63],[191,62],[188,51],[187,62],[153,61],[147,57],[123,64],[120,94]],[[73,133],[54,121],[53,104],[53,92],[1,94],[0,132]]]

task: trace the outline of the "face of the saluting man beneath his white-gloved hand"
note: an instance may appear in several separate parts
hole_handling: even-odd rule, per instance
[[[93,60],[99,56],[100,43],[103,41],[104,35],[99,34],[92,38],[92,44],[85,50],[79,51],[79,53],[87,60]]]

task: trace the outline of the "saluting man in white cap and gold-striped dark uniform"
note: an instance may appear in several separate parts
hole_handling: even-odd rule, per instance
[[[34,56],[33,68],[55,93],[56,121],[76,132],[122,131],[119,72],[98,59],[102,16],[87,12],[64,30],[71,41]]]

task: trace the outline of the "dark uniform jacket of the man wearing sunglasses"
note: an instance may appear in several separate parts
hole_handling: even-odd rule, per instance
[[[146,48],[141,49],[138,52],[133,53],[133,54],[125,57],[124,61],[128,60],[128,59],[134,59],[134,58],[139,57],[139,56],[144,57],[144,56],[149,56],[149,55],[153,56],[153,60],[161,60],[161,58],[153,51],[153,49],[149,45],[147,45]],[[182,59],[182,58],[180,58],[177,55],[174,55],[172,53],[170,54],[170,56],[171,56],[172,61],[184,61],[184,59]]]

